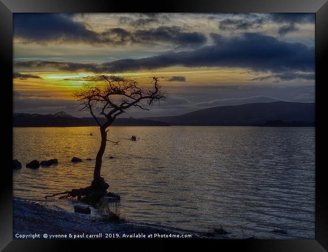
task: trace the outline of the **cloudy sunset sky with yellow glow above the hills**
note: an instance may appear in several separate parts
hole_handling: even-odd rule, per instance
[[[166,101],[123,117],[180,115],[253,102],[314,102],[315,15],[14,14],[14,112],[72,109],[84,83],[118,75]]]

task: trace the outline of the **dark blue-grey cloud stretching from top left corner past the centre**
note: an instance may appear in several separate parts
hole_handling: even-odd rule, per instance
[[[74,21],[73,17],[62,14],[15,14],[14,36],[25,42],[36,43],[56,41],[122,45],[169,42],[183,46],[200,46],[206,42],[204,34],[183,31],[177,26],[160,26],[136,31],[112,28],[97,33],[87,29],[84,23]]]

